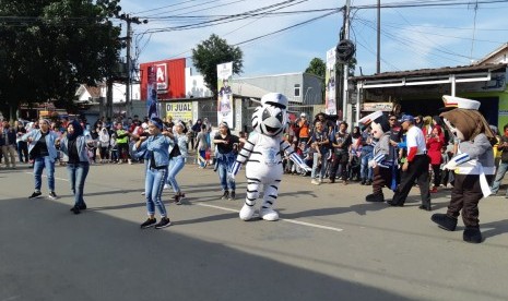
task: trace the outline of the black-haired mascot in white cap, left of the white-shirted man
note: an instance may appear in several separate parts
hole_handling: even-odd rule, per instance
[[[358,123],[369,125],[376,140],[374,158],[368,166],[374,168],[373,193],[365,197],[367,202],[385,202],[382,188],[397,188],[397,153],[390,143],[390,123],[382,111],[375,111],[358,120]]]

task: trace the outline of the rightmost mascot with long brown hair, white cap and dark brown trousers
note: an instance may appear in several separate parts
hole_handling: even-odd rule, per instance
[[[479,112],[480,101],[442,96],[445,107],[457,107],[442,112],[445,124],[459,141],[459,148],[444,169],[454,171],[451,200],[446,214],[434,214],[432,220],[440,228],[453,231],[462,213],[465,229],[462,239],[482,242],[479,225],[479,202],[491,194],[488,181],[495,174],[493,142],[496,140],[488,123]]]

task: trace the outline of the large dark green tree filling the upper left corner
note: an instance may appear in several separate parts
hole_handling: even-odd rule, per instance
[[[0,101],[72,104],[118,62],[119,0],[0,0]]]

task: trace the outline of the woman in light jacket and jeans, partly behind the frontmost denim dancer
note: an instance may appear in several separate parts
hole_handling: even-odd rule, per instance
[[[181,192],[178,182],[176,181],[176,176],[178,172],[184,169],[187,158],[187,143],[188,136],[184,133],[185,125],[181,121],[178,121],[173,131],[173,142],[169,145],[169,172],[167,174],[167,181],[169,185],[173,188],[175,192],[175,203],[177,205],[181,205],[181,200],[186,196],[185,193]]]

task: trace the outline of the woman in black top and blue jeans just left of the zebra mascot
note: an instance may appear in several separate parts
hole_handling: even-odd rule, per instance
[[[236,161],[236,153],[234,150],[235,144],[238,145],[238,136],[232,135],[229,127],[226,122],[218,124],[218,133],[213,139],[213,143],[217,146],[215,154],[216,170],[221,179],[221,186],[223,190],[222,200],[235,200],[236,183],[233,178],[227,177],[231,172],[233,165]],[[231,191],[231,194],[229,194]]]

